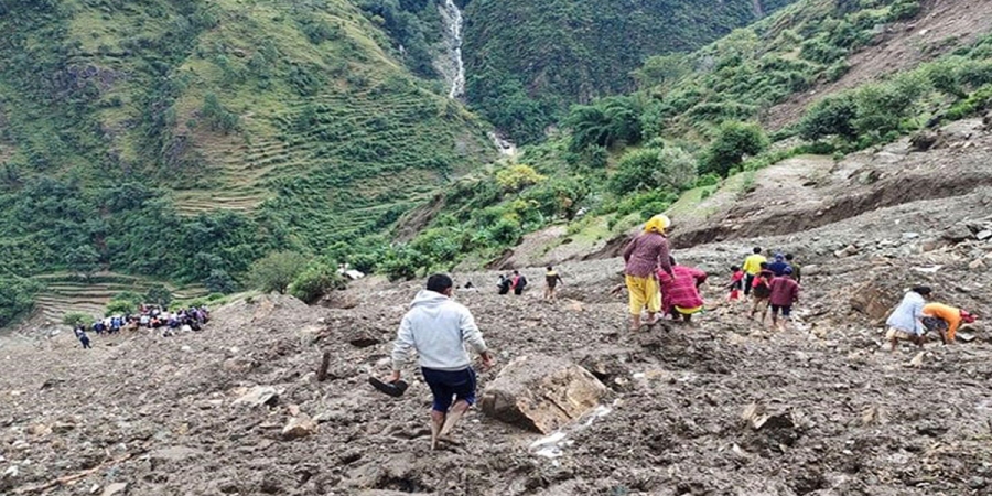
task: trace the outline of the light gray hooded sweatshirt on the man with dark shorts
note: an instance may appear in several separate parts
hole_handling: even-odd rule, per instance
[[[471,363],[465,344],[476,353],[486,351],[472,312],[441,293],[421,290],[400,322],[392,369],[402,368],[410,359],[410,351],[416,349],[421,367],[464,370]]]

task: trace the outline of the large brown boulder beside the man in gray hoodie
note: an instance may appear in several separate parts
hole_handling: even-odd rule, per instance
[[[531,355],[507,364],[486,387],[479,407],[494,419],[547,434],[599,406],[606,392],[589,370]]]

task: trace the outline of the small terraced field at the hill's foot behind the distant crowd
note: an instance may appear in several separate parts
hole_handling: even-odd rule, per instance
[[[107,303],[118,293],[132,291],[143,294],[158,283],[114,272],[99,272],[90,282],[80,281],[69,273],[45,274],[35,279],[46,287],[35,299],[35,313],[51,322],[60,322],[65,314],[72,312],[103,315]],[[202,287],[165,285],[172,291],[175,300],[188,300],[207,294],[206,289]]]

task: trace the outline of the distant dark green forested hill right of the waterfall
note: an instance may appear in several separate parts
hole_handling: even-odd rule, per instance
[[[792,0],[473,0],[468,98],[520,142],[572,103],[630,90],[649,55],[689,52]]]

